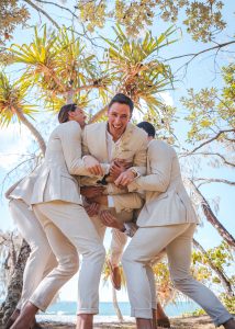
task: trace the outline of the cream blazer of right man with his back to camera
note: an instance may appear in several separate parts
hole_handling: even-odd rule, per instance
[[[146,191],[138,216],[139,227],[199,223],[182,183],[178,157],[172,147],[152,140],[147,151],[147,175],[137,178],[128,191]]]

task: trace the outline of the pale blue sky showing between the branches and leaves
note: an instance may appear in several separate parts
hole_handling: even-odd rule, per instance
[[[226,18],[228,27],[225,32],[220,35],[219,42],[223,43],[227,41],[227,35],[232,36],[234,34],[234,1],[224,1],[224,16]],[[53,8],[52,10],[53,16],[59,21],[65,22],[67,24],[67,20],[64,18],[65,13],[60,13],[57,9]],[[63,18],[61,18],[63,16]],[[32,15],[32,23],[38,22],[37,14]],[[160,32],[165,31],[169,27],[169,24],[163,23],[161,21],[156,21],[152,31],[153,35],[159,35]],[[110,26],[105,30],[100,31],[103,35],[112,36],[113,32]],[[15,43],[29,43],[31,41],[31,36],[33,34],[32,29],[30,30],[22,30],[18,29],[14,34],[14,42]],[[202,43],[194,43],[192,42],[191,37],[182,30],[182,36],[180,33],[177,34],[179,41],[169,46],[163,56],[165,58],[169,58],[176,55],[188,54],[188,53],[197,53],[203,48],[210,47],[210,44],[202,44]],[[222,81],[220,75],[215,75],[214,63],[211,58],[211,53],[206,55],[199,56],[194,59],[190,66],[188,67],[187,76],[182,79],[183,72],[180,71],[178,75],[179,82],[176,83],[175,90],[165,93],[163,97],[166,102],[177,106],[178,112],[177,115],[180,117],[179,122],[176,124],[176,134],[181,139],[184,140],[187,136],[188,126],[183,121],[183,116],[187,114],[187,109],[183,109],[180,103],[180,98],[186,95],[186,90],[189,88],[194,88],[199,91],[201,88],[204,87],[216,87],[219,89],[222,88]],[[234,60],[232,54],[228,53],[219,53],[216,61],[219,66],[227,65]],[[172,70],[176,71],[184,60],[175,60],[172,61]],[[19,73],[19,66],[11,67],[11,76],[14,78]],[[217,68],[216,68],[217,70]],[[35,123],[47,139],[48,133],[53,129],[56,125],[56,118],[53,115],[37,115],[35,116]],[[46,132],[44,129],[46,127]],[[29,154],[30,150],[35,149],[35,143],[32,140],[30,133],[27,129],[22,125],[19,127],[16,123],[9,125],[8,128],[0,129],[0,182],[3,181],[5,174],[13,169],[20,161],[20,155]],[[202,161],[201,168],[198,170],[198,177],[211,178],[224,178],[227,180],[234,180],[234,173],[231,169],[223,168],[223,169],[215,169],[205,164],[205,161]],[[4,185],[1,186],[1,192],[4,191],[8,185],[13,183],[19,175],[24,175],[24,172],[20,169],[16,172],[12,173],[10,178],[8,178],[4,182]],[[213,200],[220,198],[220,208],[217,212],[217,217],[223,223],[223,225],[232,232],[235,234],[234,229],[234,200],[235,193],[232,186],[223,185],[223,184],[210,184],[203,185],[201,191],[206,196],[206,198],[212,202]],[[13,229],[14,225],[8,212],[8,203],[5,202],[4,197],[1,197],[0,201],[1,206],[1,220],[0,220],[0,229],[8,230]],[[203,225],[198,229],[197,239],[200,240],[204,248],[212,248],[220,243],[221,238],[216,230],[209,224],[203,223]],[[107,234],[105,237],[105,247],[109,246],[110,241],[110,234]],[[72,288],[76,284],[77,277],[72,279],[70,283],[61,291],[61,299],[76,299],[76,293],[71,295],[71,292],[75,290]],[[120,293],[119,297],[123,300],[126,300],[126,294]],[[109,288],[102,288],[101,300],[110,300],[111,293]]]

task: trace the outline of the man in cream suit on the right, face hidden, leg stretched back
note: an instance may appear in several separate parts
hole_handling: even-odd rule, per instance
[[[146,132],[149,123],[138,125]],[[175,150],[164,141],[148,145],[147,175],[128,185],[146,191],[146,203],[138,216],[138,230],[126,248],[122,263],[126,275],[132,316],[138,329],[153,329],[150,283],[146,266],[166,249],[175,286],[198,303],[215,326],[234,329],[235,322],[215,295],[190,273],[191,243],[198,218],[181,180]],[[115,183],[122,184],[118,179]]]

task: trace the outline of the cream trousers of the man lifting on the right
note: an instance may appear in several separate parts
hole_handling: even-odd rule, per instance
[[[217,297],[190,273],[194,229],[195,224],[138,228],[122,258],[132,316],[152,319],[153,288],[146,269],[166,248],[169,271],[176,288],[198,303],[216,326],[232,318]]]

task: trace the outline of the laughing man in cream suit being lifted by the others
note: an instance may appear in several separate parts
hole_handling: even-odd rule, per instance
[[[132,125],[134,104],[130,98],[124,94],[116,94],[109,104],[108,122],[87,125],[83,129],[82,154],[93,156],[100,163],[109,166],[104,179],[100,182],[104,186],[104,194],[109,195],[110,203],[113,206],[113,214],[120,222],[132,220],[135,207],[142,207],[143,200],[138,193],[130,193],[124,207],[120,207],[115,194],[126,193],[125,189],[120,189],[113,182],[120,175],[123,184],[130,183],[138,174],[146,171],[146,133],[138,127]],[[94,169],[97,163],[92,163],[83,157],[87,168]],[[121,162],[132,166],[125,169]],[[99,168],[98,168],[99,169]],[[96,179],[81,178],[80,183],[83,186],[92,186],[99,184]],[[111,197],[113,195],[113,197]],[[136,206],[137,204],[137,206]],[[105,205],[102,206],[105,208]],[[103,239],[105,226],[101,223],[99,216],[92,218],[94,226]],[[120,231],[113,231],[111,245],[111,269],[118,273],[118,264],[126,243],[126,236]],[[116,275],[119,277],[119,275]],[[113,276],[115,281],[115,275]],[[114,286],[120,288],[120,281],[114,282]]]

